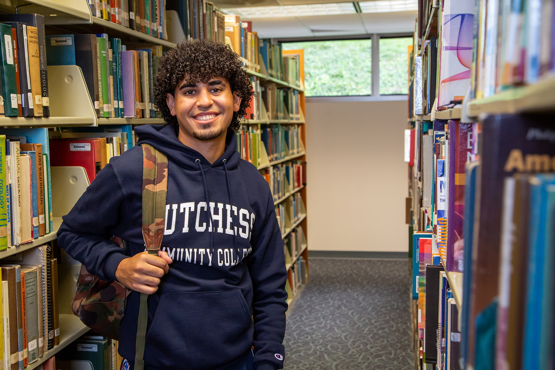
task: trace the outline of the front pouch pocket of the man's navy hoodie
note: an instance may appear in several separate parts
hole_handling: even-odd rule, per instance
[[[145,363],[206,369],[229,363],[253,342],[253,321],[239,288],[160,296],[145,339]]]

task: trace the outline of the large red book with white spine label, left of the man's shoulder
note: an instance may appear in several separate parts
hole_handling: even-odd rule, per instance
[[[81,166],[92,183],[102,163],[102,143],[99,139],[50,140],[52,166]]]

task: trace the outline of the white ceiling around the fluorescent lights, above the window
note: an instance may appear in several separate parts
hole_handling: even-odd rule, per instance
[[[337,0],[222,0],[219,8],[331,3]],[[412,33],[417,12],[358,13],[337,16],[241,18],[252,21],[261,38],[355,36],[372,33]]]

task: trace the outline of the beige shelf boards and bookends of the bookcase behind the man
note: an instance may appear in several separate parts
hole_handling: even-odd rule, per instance
[[[18,13],[38,13],[42,14],[45,19],[47,34],[52,33],[93,33],[104,32],[108,33],[111,37],[119,37],[123,43],[135,45],[162,45],[164,48],[173,48],[180,40],[165,40],[149,36],[147,34],[134,31],[130,28],[124,27],[120,24],[115,24],[104,19],[94,17],[90,11],[87,1],[75,0],[7,0],[0,4],[0,12],[15,14],[16,8]],[[170,17],[168,17],[170,22]],[[180,24],[178,27],[181,27]],[[301,55],[302,50],[293,50],[295,54]],[[285,54],[286,52],[284,52]],[[248,74],[256,76],[260,79],[261,84],[275,83],[279,88],[295,89],[299,91],[300,98],[300,115],[299,119],[286,119],[271,120],[266,115],[266,109],[263,107],[264,116],[259,120],[244,120],[244,124],[258,125],[264,127],[267,125],[299,125],[301,130],[301,143],[297,151],[289,152],[284,158],[279,160],[270,161],[268,154],[264,149],[264,144],[260,141],[259,145],[261,150],[261,158],[259,170],[272,168],[275,165],[285,163],[290,160],[305,160],[305,118],[302,113],[305,108],[304,88],[301,85],[291,84],[271,77],[265,69],[259,72],[246,69]],[[304,76],[304,70],[301,62],[301,76]],[[95,113],[94,104],[90,98],[87,84],[82,73],[82,70],[76,65],[57,65],[48,66],[48,89],[51,107],[51,116],[48,118],[24,118],[24,117],[0,117],[0,127],[11,128],[60,128],[70,126],[103,126],[103,125],[142,125],[142,124],[164,124],[161,118],[99,118]],[[263,103],[264,105],[264,103]],[[56,187],[52,186],[53,198],[53,228],[49,234],[38,237],[32,242],[9,247],[5,251],[0,251],[0,260],[5,257],[19,254],[23,251],[30,250],[39,245],[47,244],[57,239],[56,233],[62,223],[62,216],[67,214],[75,201],[83,194],[84,189],[88,185],[87,176],[82,168],[66,168],[68,171],[62,171],[63,176],[70,176],[65,180],[60,181]],[[62,175],[60,175],[62,176]],[[63,177],[62,176],[62,177]],[[54,184],[54,181],[52,181]],[[65,185],[64,185],[65,184]],[[75,186],[77,184],[78,186]],[[274,205],[279,206],[285,204],[292,196],[301,196],[301,212],[295,217],[286,217],[285,228],[282,230],[282,239],[285,239],[295,227],[301,226],[304,234],[302,235],[302,243],[299,251],[295,256],[291,256],[291,261],[287,262],[287,276],[288,280],[292,280],[292,270],[296,264],[298,257],[303,257],[308,262],[308,249],[307,249],[307,229],[306,229],[306,184],[302,184],[295,189],[285,193],[285,195],[275,199]],[[56,203],[58,202],[58,204]],[[48,358],[54,356],[61,349],[73,342],[79,336],[87,332],[89,329],[80,322],[79,318],[75,317],[70,311],[69,305],[65,305],[72,300],[75,292],[75,285],[77,282],[78,270],[75,267],[70,268],[70,271],[60,271],[59,273],[59,302],[64,303],[62,307],[60,304],[59,310],[59,329],[60,329],[60,342],[54,346],[50,351],[46,351],[44,356],[37,361],[29,364],[26,367],[28,370],[33,370],[41,366],[41,364]],[[306,263],[306,282],[308,281],[308,263]],[[295,302],[298,300],[306,283],[300,285],[293,296],[287,299],[289,308],[286,315],[289,315]]]

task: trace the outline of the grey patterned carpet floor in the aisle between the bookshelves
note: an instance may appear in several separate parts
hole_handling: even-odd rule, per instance
[[[407,260],[309,259],[285,370],[411,370]]]

